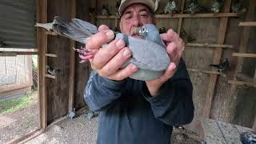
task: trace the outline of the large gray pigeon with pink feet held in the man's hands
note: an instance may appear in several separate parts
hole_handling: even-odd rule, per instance
[[[55,17],[53,30],[55,33],[75,41],[86,43],[86,38],[97,32],[97,27],[77,18],[72,22],[65,22],[62,18]],[[115,38],[122,38],[126,46],[132,51],[132,58],[129,63],[138,66],[138,70],[130,78],[138,80],[153,80],[159,78],[164,70],[170,65],[170,58],[166,52],[166,46],[158,33],[158,29],[153,24],[146,24],[139,28],[138,32],[144,37],[133,38],[126,34],[116,33]],[[86,60],[93,58],[94,53],[86,48],[77,50],[86,56]],[[88,56],[88,57],[87,57]]]

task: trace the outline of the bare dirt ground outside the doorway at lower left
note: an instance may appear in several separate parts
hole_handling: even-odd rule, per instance
[[[38,100],[37,94],[32,100]],[[0,143],[10,142],[38,129],[38,104],[34,103],[11,114],[0,114]]]

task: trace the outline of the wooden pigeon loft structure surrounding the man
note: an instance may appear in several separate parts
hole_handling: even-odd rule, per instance
[[[194,120],[183,127],[205,141],[207,138],[204,134],[208,134],[210,128],[203,127],[205,124],[202,124],[202,118],[210,122],[214,119],[214,121],[223,121],[255,130],[256,1],[239,1],[242,2],[241,8],[234,9],[232,6],[237,1],[226,0],[218,5],[215,4],[217,7],[214,6],[214,10],[202,10],[201,3],[210,8],[212,4],[201,0],[198,0],[198,3],[175,0],[175,8],[169,5],[170,7],[167,8],[170,9],[170,14],[164,14],[167,2],[168,0],[162,0],[158,3],[158,10],[154,13],[156,26],[158,29],[172,29],[186,40],[182,58],[186,62],[194,87],[193,100],[196,107]],[[21,66],[17,65],[18,61],[26,62],[24,59],[19,59],[21,55],[38,56],[38,70],[35,71],[38,71],[39,119],[36,132],[42,134],[42,131],[57,125],[54,122],[61,123],[69,120],[68,114],[79,114],[79,110],[88,109],[83,102],[83,97],[85,84],[92,69],[89,62],[80,64],[79,55],[72,49],[72,47],[83,47],[82,43],[34,25],[37,22],[52,22],[53,18],[59,15],[68,22],[71,18],[79,18],[95,26],[104,24],[111,28],[118,28],[120,15],[117,14],[116,4],[114,0],[65,2],[38,0],[37,3],[25,0],[15,3],[4,0],[0,2],[2,7],[0,9],[2,14],[0,17],[0,66],[2,66],[0,84],[3,81],[6,82],[6,78],[3,78],[6,74],[12,74],[14,68]],[[34,18],[34,15],[37,17]],[[14,47],[22,50],[13,50]],[[210,64],[222,64],[225,58],[229,61],[226,70],[222,71],[216,66],[210,66]],[[3,69],[11,59],[16,59],[16,65],[10,64],[10,69]],[[46,66],[62,71],[52,75],[47,72]],[[34,77],[33,74],[26,76],[26,78]],[[2,86],[7,89],[10,85],[5,83]],[[0,95],[1,90],[3,89],[0,85]],[[72,122],[76,118],[74,117]],[[214,130],[218,130],[217,127],[214,127]],[[12,142],[21,142],[31,135],[17,137]],[[9,141],[0,138],[0,143],[5,142]]]

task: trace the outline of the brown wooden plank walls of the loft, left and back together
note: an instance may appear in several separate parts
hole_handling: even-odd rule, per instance
[[[178,3],[181,3],[182,0],[177,0]],[[230,2],[230,1],[229,1]],[[246,1],[246,6],[249,6],[249,0]],[[89,21],[94,18],[89,17],[89,8],[90,6],[96,6],[96,14],[101,15],[102,13],[102,4],[107,4],[110,10],[110,14],[115,14],[115,1],[83,1],[77,0],[77,17],[83,20]],[[163,10],[166,5],[166,1],[162,0],[160,2],[160,7],[158,9],[158,14]],[[48,3],[48,22],[52,22],[52,19],[55,15],[60,15],[63,18],[70,19],[71,3],[68,0],[60,1],[56,0]],[[182,7],[178,5],[178,7]],[[226,10],[229,12],[229,10]],[[206,116],[210,118],[216,118],[223,122],[241,122],[241,119],[234,121],[234,117],[238,116],[241,112],[246,115],[249,115],[248,119],[242,120],[242,126],[252,126],[254,114],[252,111],[255,111],[255,101],[246,101],[243,105],[248,106],[246,109],[241,109],[239,113],[236,113],[239,107],[238,100],[232,100],[234,94],[253,94],[252,90],[249,92],[242,93],[242,90],[246,91],[246,87],[243,87],[242,90],[230,90],[230,84],[227,83],[228,80],[234,78],[234,67],[236,66],[237,60],[232,57],[232,53],[238,52],[238,46],[240,44],[242,28],[238,27],[238,23],[244,21],[245,16],[243,15],[240,18],[230,18],[227,20],[225,18],[224,25],[220,25],[221,18],[157,18],[157,26],[166,28],[172,28],[173,30],[179,32],[180,29],[186,30],[186,33],[196,38],[194,43],[210,43],[210,44],[224,44],[232,45],[228,47],[233,48],[218,48],[214,47],[202,47],[202,46],[186,46],[185,53],[183,55],[184,60],[186,61],[187,68],[192,69],[190,71],[190,78],[194,86],[194,105],[195,105],[195,114],[194,121],[186,126],[190,130],[193,130],[199,133],[201,126],[200,118],[202,115],[207,114]],[[94,20],[93,20],[94,21]],[[224,20],[223,20],[224,21]],[[97,18],[95,19],[97,26],[101,24],[106,24],[110,27],[117,26],[118,21],[114,18]],[[182,24],[182,25],[179,25]],[[220,30],[219,27],[225,27],[226,30]],[[223,28],[222,27],[222,28]],[[221,36],[222,31],[226,31],[226,34]],[[219,39],[218,39],[219,38]],[[250,35],[250,38],[255,38],[254,35]],[[81,46],[78,44],[77,46]],[[254,45],[255,46],[255,45]],[[214,57],[216,51],[222,49],[222,53]],[[46,89],[47,89],[47,122],[51,122],[55,118],[59,118],[68,111],[68,94],[69,94],[69,82],[70,78],[70,40],[67,38],[62,38],[58,36],[48,36],[48,53],[57,54],[58,58],[47,58],[47,63],[50,66],[54,66],[57,69],[62,70],[58,74],[57,78],[46,78]],[[222,74],[216,78],[216,85],[210,87],[211,100],[206,99],[208,92],[208,86],[210,83],[210,74],[219,74],[216,70],[209,67],[210,63],[218,62],[214,61],[215,59],[222,60],[223,58],[230,59],[230,70],[227,74]],[[78,54],[75,55],[75,66],[74,66],[74,107],[79,108],[84,106],[83,102],[83,90],[86,85],[86,81],[89,77],[90,65],[88,63],[80,64],[78,63],[80,58]],[[201,71],[201,72],[200,72]],[[206,73],[208,71],[208,73]],[[210,71],[210,72],[209,72]],[[211,72],[213,71],[213,72]],[[255,89],[253,89],[255,90]],[[250,94],[248,94],[250,93]],[[210,93],[209,93],[210,94]],[[208,102],[206,102],[208,101]],[[230,103],[231,102],[231,103]],[[208,110],[205,110],[205,107],[209,106]],[[247,110],[247,111],[246,111]],[[232,116],[230,116],[232,115]],[[251,122],[252,121],[252,122]],[[236,124],[236,123],[234,123]]]

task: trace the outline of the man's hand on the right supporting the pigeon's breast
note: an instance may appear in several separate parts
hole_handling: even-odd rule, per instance
[[[158,95],[158,90],[162,84],[174,76],[184,50],[184,42],[174,30],[170,29],[166,34],[161,34],[161,38],[166,44],[166,51],[170,57],[170,65],[162,77],[152,81],[146,81],[146,86],[153,97]]]

